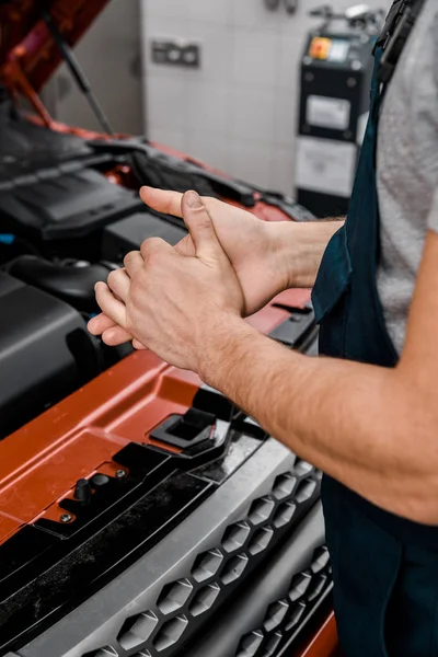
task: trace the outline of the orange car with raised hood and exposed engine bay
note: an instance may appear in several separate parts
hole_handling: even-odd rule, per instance
[[[37,94],[64,57],[105,128],[70,50],[105,4],[0,3],[0,656],[330,657],[320,473],[196,376],[87,332],[96,280],[143,239],[185,234],[141,184],[311,217],[50,118]],[[318,351],[308,290],[249,321]]]

